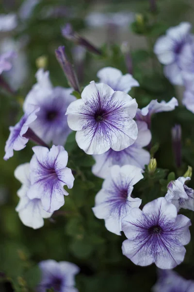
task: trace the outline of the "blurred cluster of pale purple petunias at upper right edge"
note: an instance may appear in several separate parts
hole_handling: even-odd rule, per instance
[[[184,85],[182,100],[188,110],[194,112],[194,37],[191,24],[181,22],[159,37],[154,52],[164,64],[165,76],[175,85]]]

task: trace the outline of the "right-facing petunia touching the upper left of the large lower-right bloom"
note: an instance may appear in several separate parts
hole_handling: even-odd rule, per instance
[[[109,176],[97,193],[95,207],[92,208],[98,219],[105,220],[105,227],[109,231],[121,235],[121,220],[131,208],[141,205],[141,199],[131,197],[133,185],[141,179],[143,175],[139,167],[113,165],[110,168]]]

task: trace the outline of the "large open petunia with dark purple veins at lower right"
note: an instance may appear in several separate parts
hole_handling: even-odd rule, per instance
[[[190,225],[190,219],[177,215],[176,207],[164,198],[147,203],[142,211],[132,208],[122,220],[128,238],[122,245],[123,254],[136,265],[155,262],[161,269],[172,269],[184,259]]]

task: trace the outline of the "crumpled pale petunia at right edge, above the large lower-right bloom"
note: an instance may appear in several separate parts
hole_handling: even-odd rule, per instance
[[[173,203],[177,211],[181,208],[194,211],[194,190],[185,185],[185,182],[190,180],[190,177],[179,177],[176,181],[171,181],[168,184],[165,199]]]

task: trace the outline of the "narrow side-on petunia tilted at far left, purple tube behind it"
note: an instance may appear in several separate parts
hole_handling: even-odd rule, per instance
[[[29,105],[26,113],[21,117],[20,121],[14,127],[10,127],[10,134],[5,145],[4,160],[8,160],[14,155],[14,150],[19,151],[26,147],[28,138],[24,137],[25,133],[29,129],[29,125],[37,118],[37,112],[40,109]]]

